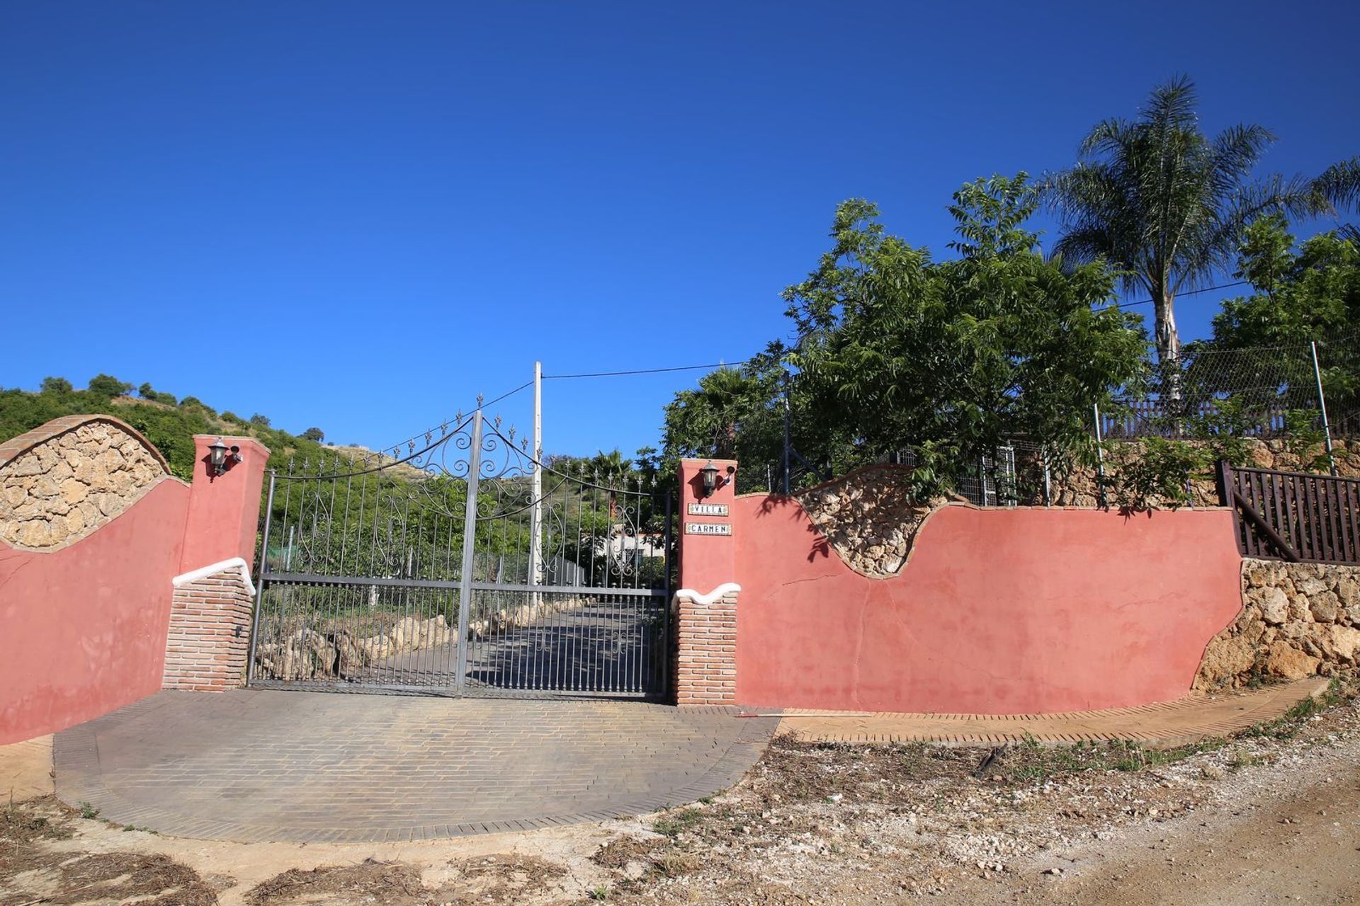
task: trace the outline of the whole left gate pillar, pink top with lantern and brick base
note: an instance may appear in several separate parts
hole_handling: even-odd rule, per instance
[[[216,439],[193,439],[197,465],[170,602],[165,689],[220,691],[245,682],[254,609],[250,564],[269,450],[253,437],[223,437],[239,448],[241,462],[218,475],[208,451]]]

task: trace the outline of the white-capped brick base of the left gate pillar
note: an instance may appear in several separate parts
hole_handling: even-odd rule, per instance
[[[175,577],[162,689],[224,691],[245,682],[254,588],[245,561]]]

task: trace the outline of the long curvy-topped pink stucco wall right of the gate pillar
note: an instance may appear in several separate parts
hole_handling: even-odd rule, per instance
[[[1227,509],[949,505],[891,579],[853,572],[785,497],[737,499],[733,532],[747,705],[1000,714],[1168,701],[1242,604]]]

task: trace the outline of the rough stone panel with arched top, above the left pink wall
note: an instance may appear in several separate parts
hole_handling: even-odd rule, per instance
[[[0,446],[0,541],[64,547],[169,474],[155,447],[117,418],[56,418]]]

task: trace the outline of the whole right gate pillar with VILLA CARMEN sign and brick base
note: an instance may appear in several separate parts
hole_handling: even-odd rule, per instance
[[[706,493],[703,470],[718,470]],[[734,705],[737,695],[737,595],[732,505],[737,463],[680,463],[680,591],[675,594],[677,705]]]

